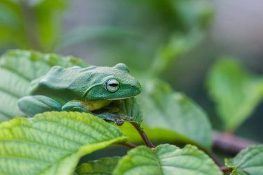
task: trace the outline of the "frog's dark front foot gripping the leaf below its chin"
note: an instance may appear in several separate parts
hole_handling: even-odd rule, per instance
[[[111,122],[115,122],[116,125],[120,126],[120,125],[123,125],[123,123],[125,121],[132,121],[134,120],[133,117],[129,117],[129,116],[125,116],[125,115],[122,115],[122,114],[114,114],[114,113],[100,113],[98,115],[98,118],[101,118],[103,120],[108,120],[108,121],[111,121]]]

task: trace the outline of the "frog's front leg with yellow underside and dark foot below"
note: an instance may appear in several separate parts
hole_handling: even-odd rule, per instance
[[[117,125],[123,125],[123,122],[127,120],[127,116],[118,115],[114,113],[92,113],[91,111],[95,111],[102,107],[107,106],[111,101],[109,100],[100,100],[100,101],[93,101],[93,102],[83,102],[80,100],[73,100],[67,102],[62,107],[62,111],[78,111],[84,113],[91,113],[94,116],[98,116],[103,120],[109,120],[112,122],[116,122]],[[130,119],[130,118],[129,118]]]

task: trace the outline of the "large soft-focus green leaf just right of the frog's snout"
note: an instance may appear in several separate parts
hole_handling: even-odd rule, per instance
[[[138,102],[143,111],[143,125],[149,138],[191,142],[210,149],[212,128],[206,113],[182,93],[152,78],[144,79]]]

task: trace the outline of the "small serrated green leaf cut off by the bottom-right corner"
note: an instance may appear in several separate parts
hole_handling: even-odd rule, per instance
[[[248,147],[235,158],[226,159],[226,166],[234,169],[231,175],[263,174],[263,145]]]

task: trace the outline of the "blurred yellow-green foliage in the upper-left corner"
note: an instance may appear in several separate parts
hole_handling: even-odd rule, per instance
[[[53,50],[65,6],[62,0],[1,0],[0,46]]]

